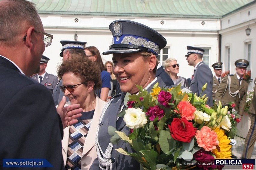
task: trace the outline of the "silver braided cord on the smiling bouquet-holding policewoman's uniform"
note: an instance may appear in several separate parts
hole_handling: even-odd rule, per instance
[[[105,111],[107,110],[107,108],[108,108],[109,104],[112,102],[112,100],[113,100],[113,98],[111,100],[109,100],[108,103],[103,108],[100,119],[99,119],[99,123],[102,121],[102,118],[105,114]],[[112,170],[111,151],[113,149],[113,144],[110,142],[108,144],[108,147],[107,147],[106,151],[103,154],[102,149],[99,147],[98,133],[99,133],[99,126],[97,128],[96,143],[95,143],[96,151],[97,151],[97,157],[98,157],[98,160],[99,160],[99,167],[102,170]]]

